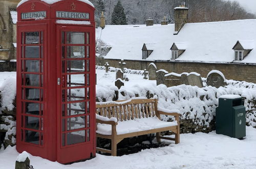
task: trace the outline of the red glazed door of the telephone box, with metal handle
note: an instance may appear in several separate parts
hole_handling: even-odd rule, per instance
[[[95,35],[93,27],[56,28],[57,161],[68,163],[95,157]]]

